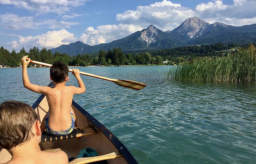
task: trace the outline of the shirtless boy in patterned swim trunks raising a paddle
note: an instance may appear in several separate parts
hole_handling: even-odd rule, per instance
[[[55,87],[43,87],[31,84],[28,79],[27,66],[30,59],[26,61],[28,56],[24,56],[22,61],[22,78],[25,88],[36,93],[44,94],[49,105],[49,112],[44,117],[41,124],[41,131],[46,129],[47,133],[53,136],[67,135],[74,130],[76,116],[71,108],[74,94],[85,92],[84,82],[80,77],[78,69],[73,69],[72,74],[75,75],[79,87],[65,86],[68,81],[68,67],[60,62],[55,62],[50,68],[50,79]]]

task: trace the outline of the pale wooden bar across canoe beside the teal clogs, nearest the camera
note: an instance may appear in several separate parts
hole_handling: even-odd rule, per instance
[[[100,155],[97,157],[87,157],[87,158],[77,158],[70,163],[72,164],[84,164],[84,163],[90,163],[90,162],[95,162],[95,161],[100,161],[100,160],[110,160],[110,159],[115,159],[115,158],[121,158],[123,157],[119,152],[113,152],[105,155]]]

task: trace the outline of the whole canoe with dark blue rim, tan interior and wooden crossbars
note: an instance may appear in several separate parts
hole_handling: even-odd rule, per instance
[[[51,82],[49,87],[54,87]],[[41,95],[32,105],[35,109],[40,123],[49,109],[45,95]],[[86,110],[78,105],[74,100],[71,106],[76,114],[77,127],[71,134],[61,137],[51,137],[42,135],[39,144],[43,151],[63,150],[68,157],[77,157],[81,149],[91,147],[96,149],[99,156],[78,158],[70,163],[88,163],[98,160],[107,160],[108,164],[133,164],[138,163],[129,150],[116,138],[116,136],[102,125],[97,119],[92,117]],[[80,137],[79,139],[75,139]],[[11,159],[11,154],[7,150],[0,150],[0,163]]]

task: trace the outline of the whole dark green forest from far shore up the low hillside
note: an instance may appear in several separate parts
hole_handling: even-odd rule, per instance
[[[26,52],[24,48],[21,48],[18,53],[16,53],[14,49],[12,52],[9,52],[2,46],[0,48],[0,65],[17,67],[21,64],[20,59],[25,55],[28,55],[28,57],[34,61],[49,64],[52,64],[54,61],[62,61],[69,66],[148,65],[163,64],[163,61],[170,61],[167,64],[179,64],[202,56],[226,55],[226,53],[221,50],[227,50],[237,46],[239,45],[223,45],[222,43],[217,43],[212,45],[184,46],[126,54],[123,53],[121,48],[113,48],[108,51],[100,50],[97,54],[78,54],[73,57],[66,53],[55,52],[52,54],[51,50],[47,50],[46,48],[42,48],[42,50],[39,51],[37,47],[30,48],[28,52]]]

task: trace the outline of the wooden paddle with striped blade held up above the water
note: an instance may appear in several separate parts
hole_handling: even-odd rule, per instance
[[[28,57],[26,58],[26,60],[28,61]],[[33,61],[31,59],[30,59],[30,63],[34,63],[34,64],[46,66],[46,67],[52,67],[52,64],[47,64],[47,63],[43,63],[43,62],[39,62],[39,61]],[[72,69],[68,69],[68,71],[73,72]],[[80,74],[81,75],[86,75],[86,76],[91,76],[91,77],[96,77],[98,79],[108,80],[110,82],[114,82],[115,84],[117,84],[121,87],[134,89],[134,90],[140,90],[140,89],[143,89],[147,86],[147,84],[143,84],[143,83],[140,83],[140,82],[134,82],[134,81],[131,81],[131,80],[110,79],[110,78],[107,78],[107,77],[93,75],[93,74],[89,74],[89,73],[81,72],[81,71],[80,71]]]

